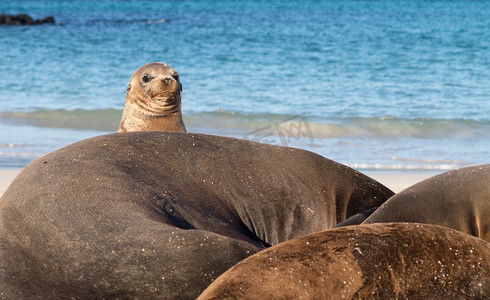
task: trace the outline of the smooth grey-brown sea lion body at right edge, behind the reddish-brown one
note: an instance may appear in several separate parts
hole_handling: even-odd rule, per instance
[[[414,184],[363,224],[385,222],[437,224],[490,242],[490,165],[457,169]]]

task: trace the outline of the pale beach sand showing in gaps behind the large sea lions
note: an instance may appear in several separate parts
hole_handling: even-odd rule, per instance
[[[15,176],[21,169],[0,169],[0,196],[3,195]],[[366,173],[368,176],[378,180],[394,192],[399,192],[419,181],[429,178],[437,173],[429,172],[402,172],[399,173]]]

